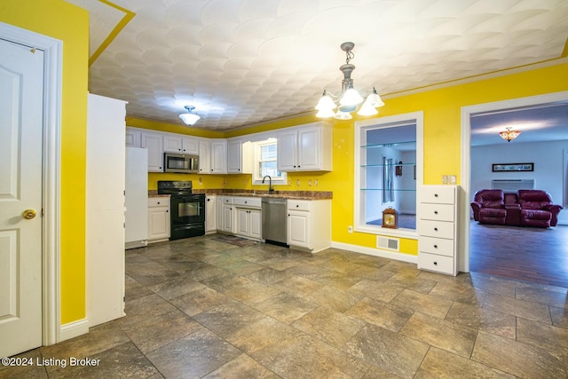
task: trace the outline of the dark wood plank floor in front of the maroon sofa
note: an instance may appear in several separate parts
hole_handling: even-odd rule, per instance
[[[568,288],[568,226],[469,225],[469,270]]]

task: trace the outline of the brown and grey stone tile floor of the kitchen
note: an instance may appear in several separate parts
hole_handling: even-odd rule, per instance
[[[128,250],[126,274],[126,317],[0,378],[568,376],[566,288],[211,236]]]

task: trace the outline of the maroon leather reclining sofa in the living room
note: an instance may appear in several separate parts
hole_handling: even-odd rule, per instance
[[[562,207],[546,191],[483,189],[474,195],[471,209],[479,224],[549,227],[556,226]]]

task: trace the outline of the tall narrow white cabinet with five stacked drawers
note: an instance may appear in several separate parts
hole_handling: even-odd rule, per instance
[[[458,186],[422,186],[418,204],[418,268],[458,274]]]

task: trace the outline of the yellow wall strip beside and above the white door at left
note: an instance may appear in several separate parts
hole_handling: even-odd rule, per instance
[[[61,0],[2,0],[0,21],[63,41],[61,324],[85,317],[85,140],[89,14]]]

